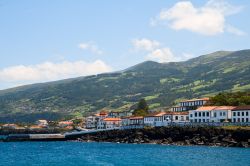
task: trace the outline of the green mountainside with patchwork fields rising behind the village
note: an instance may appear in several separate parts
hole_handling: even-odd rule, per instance
[[[250,89],[250,50],[218,51],[185,62],[147,61],[105,73],[0,91],[0,122],[51,120],[100,109],[129,109],[145,98],[150,108],[178,99]]]

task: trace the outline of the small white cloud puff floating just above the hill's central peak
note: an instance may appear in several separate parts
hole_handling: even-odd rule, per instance
[[[134,39],[132,40],[132,44],[135,50],[145,50],[145,51],[152,51],[160,46],[160,43],[158,41],[149,40],[146,38]]]

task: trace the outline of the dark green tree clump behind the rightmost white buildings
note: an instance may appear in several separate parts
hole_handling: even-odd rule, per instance
[[[209,105],[250,105],[250,92],[219,93],[210,98]]]

